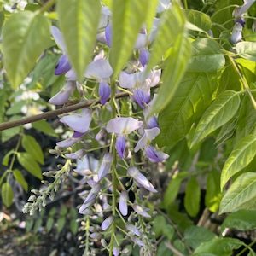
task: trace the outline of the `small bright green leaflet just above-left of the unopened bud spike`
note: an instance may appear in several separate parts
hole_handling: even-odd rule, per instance
[[[23,166],[27,172],[30,172],[34,177],[42,179],[42,172],[38,163],[32,159],[32,156],[27,153],[19,153],[18,160],[20,165]]]

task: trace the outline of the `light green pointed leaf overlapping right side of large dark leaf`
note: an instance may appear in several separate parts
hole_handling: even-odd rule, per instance
[[[191,148],[201,142],[212,131],[226,124],[236,114],[240,105],[240,97],[236,91],[226,90],[212,102],[212,105],[203,113],[195,129]]]

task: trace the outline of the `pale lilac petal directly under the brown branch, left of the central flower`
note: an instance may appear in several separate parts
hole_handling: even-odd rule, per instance
[[[82,113],[75,113],[64,116],[60,119],[61,123],[66,124],[74,131],[84,133],[89,130],[91,121],[91,112],[89,109],[84,108]]]

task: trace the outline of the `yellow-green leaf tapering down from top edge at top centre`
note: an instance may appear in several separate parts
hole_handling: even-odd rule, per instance
[[[138,32],[152,4],[156,7],[154,2],[150,3],[147,0],[113,0],[113,42],[110,61],[114,69],[114,77],[129,60]]]

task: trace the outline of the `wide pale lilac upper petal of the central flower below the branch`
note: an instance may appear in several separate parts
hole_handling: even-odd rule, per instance
[[[130,134],[143,125],[142,121],[133,118],[114,118],[108,121],[107,131],[115,134]]]

